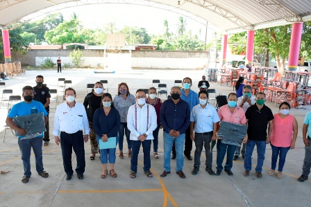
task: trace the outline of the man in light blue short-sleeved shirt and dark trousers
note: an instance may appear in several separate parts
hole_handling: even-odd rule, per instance
[[[199,92],[199,101],[199,105],[193,107],[190,115],[190,137],[196,144],[192,174],[198,174],[199,172],[201,152],[204,145],[206,156],[205,170],[208,174],[214,175],[210,142],[216,140],[217,123],[219,123],[220,119],[215,107],[208,104],[208,93],[206,91]],[[193,129],[195,134],[193,134]]]

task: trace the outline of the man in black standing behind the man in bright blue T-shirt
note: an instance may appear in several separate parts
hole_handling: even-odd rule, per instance
[[[45,128],[47,129],[47,132],[44,132],[44,146],[49,145],[49,105],[50,105],[50,89],[48,87],[45,87],[43,85],[43,76],[37,75],[35,78],[35,82],[37,85],[33,87],[33,100],[36,100],[38,102],[41,102],[44,108],[47,110],[47,124],[45,125]]]

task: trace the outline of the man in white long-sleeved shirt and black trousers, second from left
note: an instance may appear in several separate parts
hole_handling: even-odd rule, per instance
[[[53,135],[55,136],[56,145],[62,148],[62,161],[66,180],[72,179],[72,148],[76,153],[76,174],[78,179],[83,179],[85,172],[85,153],[84,143],[89,139],[90,127],[87,120],[85,107],[79,102],[75,102],[76,91],[72,88],[65,90],[66,102],[58,105],[55,117]],[[83,136],[84,130],[84,136]],[[60,136],[59,136],[60,135]]]

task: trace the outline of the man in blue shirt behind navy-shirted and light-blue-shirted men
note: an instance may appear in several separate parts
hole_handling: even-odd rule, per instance
[[[181,99],[185,100],[190,106],[190,112],[192,111],[192,108],[195,105],[199,105],[199,96],[198,93],[192,91],[190,88],[192,87],[192,80],[191,78],[184,78],[183,79],[183,89],[181,90]],[[185,132],[185,151],[183,154],[187,157],[188,160],[192,161],[191,156],[191,150],[192,150],[192,140],[190,138],[190,125],[187,127],[187,130]],[[173,145],[172,155],[171,159],[176,158],[176,152],[175,147]]]

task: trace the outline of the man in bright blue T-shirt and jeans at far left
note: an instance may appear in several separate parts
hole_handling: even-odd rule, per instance
[[[42,103],[33,100],[33,87],[26,86],[23,88],[23,98],[24,102],[19,102],[12,107],[10,113],[6,117],[6,124],[14,129],[18,136],[19,150],[22,153],[22,161],[24,164],[24,177],[22,178],[23,183],[28,183],[31,177],[31,147],[33,147],[33,152],[35,154],[35,168],[37,173],[47,178],[49,174],[44,171],[42,162],[42,136],[37,136],[35,138],[21,139],[26,135],[26,129],[21,129],[15,125],[13,118],[16,116],[26,116],[30,114],[43,113],[44,122],[47,123],[47,111],[44,109]]]

